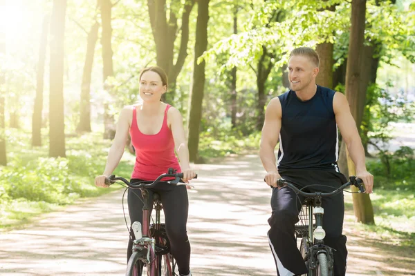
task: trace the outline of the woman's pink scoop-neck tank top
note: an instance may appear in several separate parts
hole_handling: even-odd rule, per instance
[[[167,173],[168,168],[174,168],[177,172],[181,172],[178,159],[174,154],[172,130],[167,126],[169,108],[170,106],[167,104],[160,131],[155,135],[145,135],[138,129],[137,110],[136,106],[133,107],[133,122],[129,133],[136,149],[136,164],[131,178],[154,180],[163,173]]]

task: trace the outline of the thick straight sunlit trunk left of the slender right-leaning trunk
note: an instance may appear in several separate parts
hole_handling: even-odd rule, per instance
[[[49,156],[66,157],[64,125],[64,32],[66,0],[54,0],[50,21]]]

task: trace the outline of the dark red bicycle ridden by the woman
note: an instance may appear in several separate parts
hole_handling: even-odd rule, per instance
[[[133,221],[131,230],[133,230],[136,239],[133,241],[133,254],[129,257],[127,264],[126,276],[140,276],[142,273],[147,276],[175,276],[176,263],[170,253],[169,239],[166,234],[165,224],[160,221],[160,210],[163,206],[160,201],[160,196],[157,193],[153,195],[154,210],[156,210],[156,220],[154,224],[150,224],[150,213],[148,208],[149,192],[147,189],[153,188],[156,184],[165,177],[174,177],[172,181],[165,181],[172,185],[186,185],[181,181],[183,173],[176,173],[172,168],[168,172],[160,175],[154,181],[140,181],[130,183],[123,177],[116,177],[111,175],[105,180],[105,184],[111,185],[117,180],[124,182],[128,188],[140,189],[143,200],[142,207],[142,225],[138,221]],[[196,177],[197,178],[197,175]],[[127,221],[127,220],[126,220]],[[147,270],[147,271],[145,271]]]

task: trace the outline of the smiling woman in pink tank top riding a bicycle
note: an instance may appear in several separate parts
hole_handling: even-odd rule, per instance
[[[132,144],[136,149],[136,164],[131,175],[131,183],[154,180],[166,173],[168,168],[183,172],[183,181],[187,183],[195,177],[196,174],[189,164],[189,150],[181,114],[176,108],[160,101],[166,91],[167,75],[163,69],[149,67],[142,70],[140,74],[142,103],[122,109],[104,173],[95,177],[96,186],[107,187],[104,180],[120,162],[128,134],[131,135]],[[175,149],[180,165],[174,155]],[[178,271],[180,275],[191,275],[190,243],[186,233],[189,208],[187,190],[185,186],[161,183],[153,191],[160,195],[163,204],[167,237]],[[138,197],[141,197],[140,193],[129,189],[130,220],[142,223],[142,201]],[[131,235],[133,235],[132,231]],[[132,244],[133,237],[130,236],[127,259],[131,256]]]

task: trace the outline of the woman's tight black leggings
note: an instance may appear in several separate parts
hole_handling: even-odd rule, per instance
[[[131,183],[142,181],[131,179]],[[189,199],[185,186],[173,186],[166,182],[158,183],[149,190],[149,208],[153,207],[153,193],[160,195],[165,213],[166,233],[170,241],[170,248],[174,259],[176,259],[178,272],[181,275],[190,273],[190,242],[187,237],[187,215],[189,213]],[[131,224],[139,221],[142,224],[142,195],[141,190],[129,189],[128,191],[128,210]],[[127,248],[127,260],[132,254],[133,232],[129,237]]]

